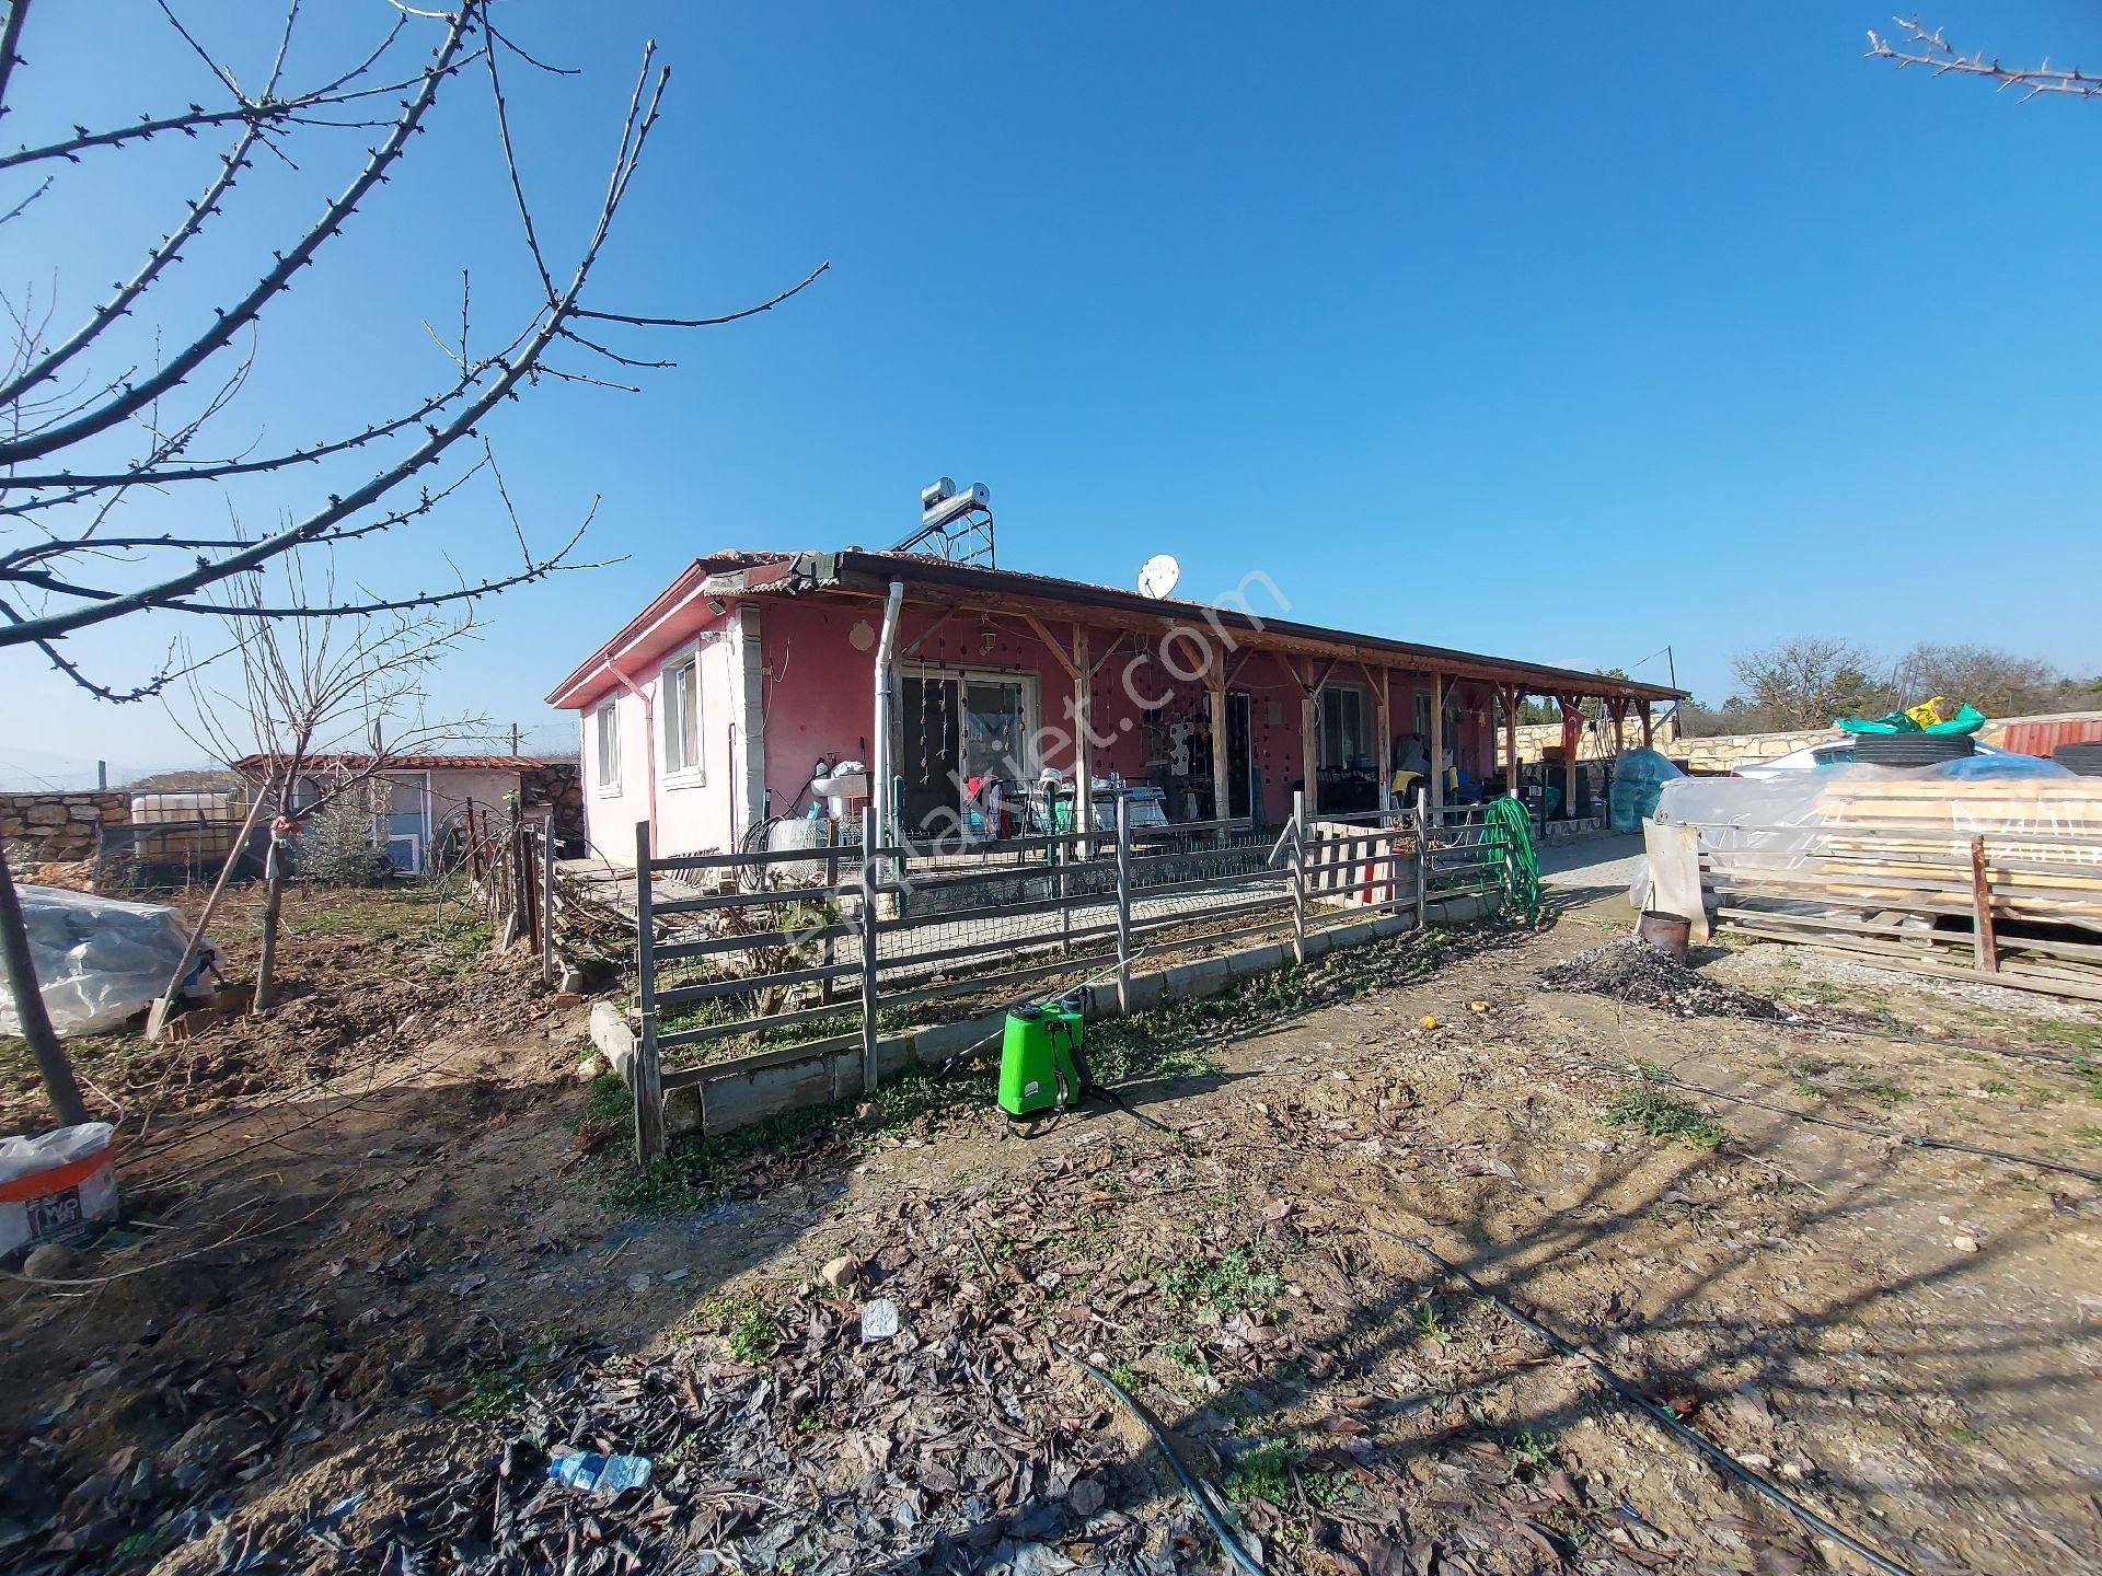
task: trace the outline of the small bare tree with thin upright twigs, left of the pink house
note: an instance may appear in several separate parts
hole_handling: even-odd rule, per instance
[[[301,557],[280,559],[290,601],[332,601],[334,580],[309,584]],[[233,656],[206,672],[240,672],[235,689],[189,672],[185,731],[240,771],[273,809],[265,870],[254,1011],[277,1002],[277,931],[290,845],[298,826],[345,796],[370,799],[406,754],[458,738],[486,719],[429,721],[423,685],[431,664],[473,633],[473,614],[391,611],[378,618],[282,620],[254,611],[261,584],[227,588]],[[313,595],[317,593],[317,595]],[[235,857],[240,849],[235,849]],[[202,929],[210,920],[198,920]]]

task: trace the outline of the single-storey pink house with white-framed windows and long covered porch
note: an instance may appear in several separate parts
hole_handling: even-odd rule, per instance
[[[1419,784],[1444,803],[1513,788],[1522,696],[1595,698],[1648,738],[1650,702],[1679,693],[1286,611],[1261,576],[1207,605],[912,553],[717,553],[549,704],[578,712],[593,845],[631,862],[637,822],[668,855],[805,815],[837,761],[891,782],[887,832],[908,838],[992,834],[990,780],[1013,830],[1047,771],[1152,790],[1177,822],[1280,824],[1295,790],[1328,815]],[[1574,809],[1574,763],[1562,788]]]

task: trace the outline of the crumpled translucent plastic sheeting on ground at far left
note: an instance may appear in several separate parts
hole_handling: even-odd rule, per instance
[[[17,887],[44,1011],[59,1034],[114,1030],[168,988],[189,927],[164,904],[126,904],[59,887]],[[198,948],[198,979],[212,948]],[[15,996],[0,988],[0,1034],[21,1034]]]

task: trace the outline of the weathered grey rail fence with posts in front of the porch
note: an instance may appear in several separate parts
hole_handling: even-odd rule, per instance
[[[664,1147],[664,1088],[784,1059],[849,1055],[877,1084],[879,1017],[984,998],[1059,973],[1114,981],[1129,1007],[1133,958],[1310,931],[1368,914],[1421,925],[1427,904],[1482,891],[1480,817],[1408,809],[1314,820],[1303,794],[1282,832],[1194,822],[1133,828],[1118,801],[1106,830],[975,849],[860,845],[771,853],[656,855],[635,828],[635,1137]],[[767,1049],[767,1040],[792,1044]],[[731,1061],[664,1067],[666,1051],[725,1040]],[[851,1061],[849,1061],[851,1067]],[[851,1072],[849,1072],[851,1078]]]

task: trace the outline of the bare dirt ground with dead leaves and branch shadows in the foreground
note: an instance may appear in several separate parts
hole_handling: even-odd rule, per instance
[[[336,929],[395,973],[444,950]],[[1175,1431],[1270,1570],[1869,1570],[1423,1244],[1904,1570],[2096,1568],[2102,1187],[1656,1076],[2096,1168],[2102,1019],[1778,946],[1703,967],[1881,1034],[1539,988],[1619,929],[1572,901],[1104,1030],[1122,1103],[1034,1139],[952,1080],[647,1183],[576,1080],[584,1009],[479,956],[416,977],[420,1007],[351,998],[326,1061],[158,1124],[137,1227],[4,1284],[0,1549],[1219,1568],[1064,1347]],[[504,1004],[496,1034],[404,1023],[454,988]],[[900,1334],[864,1343],[874,1299]],[[536,1492],[561,1444],[652,1454],[656,1486]]]

